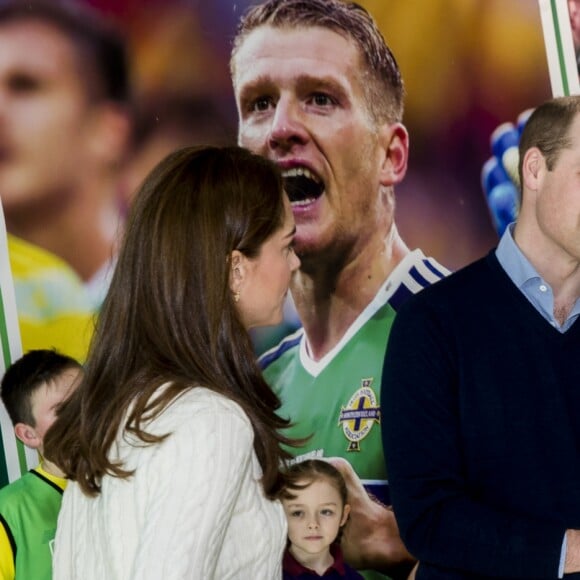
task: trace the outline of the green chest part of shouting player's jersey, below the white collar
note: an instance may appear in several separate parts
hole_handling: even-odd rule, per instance
[[[384,304],[356,332],[320,372],[311,374],[301,361],[302,331],[289,337],[293,343],[265,369],[266,380],[282,401],[278,414],[294,425],[294,438],[311,436],[299,456],[344,457],[365,486],[379,491],[387,474],[381,440],[379,403],[383,358],[395,311]],[[384,492],[384,490],[383,490]]]

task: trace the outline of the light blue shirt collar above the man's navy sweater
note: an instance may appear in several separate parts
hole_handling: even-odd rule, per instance
[[[514,224],[510,224],[495,251],[506,274],[522,291],[524,296],[534,305],[536,310],[560,332],[566,332],[580,315],[580,300],[576,300],[574,308],[568,314],[564,324],[554,318],[554,294],[550,285],[538,274],[530,261],[518,248],[512,232]]]

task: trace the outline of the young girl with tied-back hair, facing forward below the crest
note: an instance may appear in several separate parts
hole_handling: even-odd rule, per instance
[[[326,461],[309,459],[290,467],[287,476],[282,495],[288,519],[284,580],[362,579],[344,562],[337,541],[350,512],[340,472]]]

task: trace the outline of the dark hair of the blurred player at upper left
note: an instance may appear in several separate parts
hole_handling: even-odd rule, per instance
[[[51,26],[73,45],[79,77],[89,98],[129,104],[128,51],[122,34],[111,22],[79,2],[8,0],[0,4],[0,27],[34,21]]]

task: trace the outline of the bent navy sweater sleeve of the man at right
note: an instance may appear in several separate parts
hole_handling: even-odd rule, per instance
[[[416,301],[398,313],[387,347],[382,433],[403,541],[427,567],[457,575],[446,577],[557,578],[562,526],[478,501],[467,482],[466,461],[477,458],[462,448],[461,337],[449,327]]]

